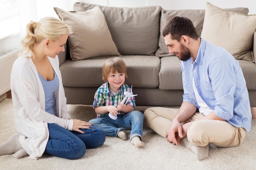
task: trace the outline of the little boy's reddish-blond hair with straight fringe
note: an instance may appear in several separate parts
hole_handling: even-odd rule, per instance
[[[125,77],[128,78],[127,75],[127,67],[121,58],[112,57],[109,58],[102,67],[102,79],[107,82],[110,73],[124,73]]]

